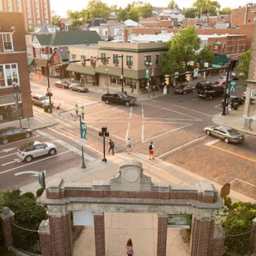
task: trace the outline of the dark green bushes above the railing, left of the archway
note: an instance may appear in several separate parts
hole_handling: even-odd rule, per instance
[[[19,189],[4,192],[4,206],[10,208],[15,214],[19,225],[37,229],[42,219],[47,219],[46,208],[37,204],[36,199],[21,195]]]

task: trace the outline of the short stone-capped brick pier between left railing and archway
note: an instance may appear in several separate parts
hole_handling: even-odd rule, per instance
[[[50,236],[50,225],[49,219],[42,220],[38,229],[40,245],[41,245],[41,255],[42,256],[52,256],[53,255],[53,245]]]

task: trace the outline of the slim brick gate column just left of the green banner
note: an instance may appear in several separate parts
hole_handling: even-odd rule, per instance
[[[168,217],[166,215],[159,215],[157,227],[157,256],[166,255],[167,224]]]

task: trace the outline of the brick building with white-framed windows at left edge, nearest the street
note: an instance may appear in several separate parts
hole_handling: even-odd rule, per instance
[[[33,116],[23,14],[0,15],[0,122]]]

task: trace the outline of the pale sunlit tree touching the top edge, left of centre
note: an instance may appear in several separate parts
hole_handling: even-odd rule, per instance
[[[105,4],[100,0],[89,1],[86,10],[90,13],[91,18],[107,19],[111,12],[111,9],[110,7],[108,7],[108,4]]]

